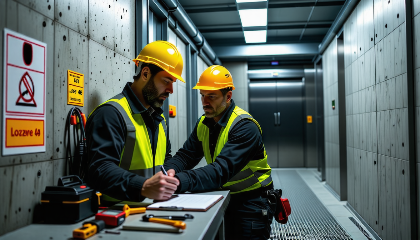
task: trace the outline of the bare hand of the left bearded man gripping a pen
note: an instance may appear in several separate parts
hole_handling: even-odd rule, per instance
[[[154,200],[167,200],[175,193],[178,185],[179,180],[177,178],[166,176],[162,171],[159,171],[144,181],[141,195]]]

